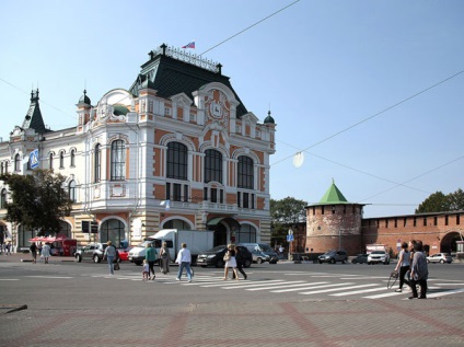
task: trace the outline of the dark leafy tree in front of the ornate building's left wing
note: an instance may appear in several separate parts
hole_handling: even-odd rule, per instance
[[[0,176],[9,186],[11,203],[7,203],[7,220],[38,235],[54,235],[60,230],[60,220],[69,216],[72,201],[63,189],[65,176],[50,170],[34,170],[31,175]]]

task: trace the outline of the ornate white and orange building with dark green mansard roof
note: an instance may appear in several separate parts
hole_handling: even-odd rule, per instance
[[[38,167],[67,177],[74,204],[61,233],[80,244],[134,244],[163,228],[214,230],[217,245],[269,242],[270,113],[259,123],[219,63],[165,45],[149,57],[128,90],[94,104],[84,91],[72,128],[46,129],[34,91],[22,126],[0,142],[1,172],[31,173],[38,149]],[[5,221],[2,182],[0,193],[0,238],[28,246],[35,231]]]

